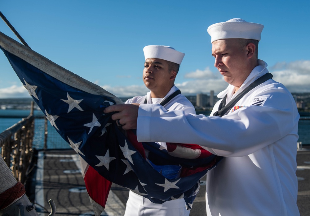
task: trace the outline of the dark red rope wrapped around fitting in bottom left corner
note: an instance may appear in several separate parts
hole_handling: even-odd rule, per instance
[[[0,194],[0,210],[9,206],[14,200],[25,194],[25,187],[21,182]]]

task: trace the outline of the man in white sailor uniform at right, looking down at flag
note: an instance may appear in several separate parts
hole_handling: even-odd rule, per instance
[[[207,174],[207,215],[299,215],[295,174],[299,113],[290,92],[268,79],[267,64],[257,58],[262,30],[263,25],[242,19],[208,28],[215,67],[229,83],[218,95],[226,97],[215,104],[210,117],[166,112],[156,104],[139,108],[122,104],[105,111],[120,111],[117,118],[126,123],[125,129],[137,128],[140,142],[157,138],[194,143],[225,157]],[[266,76],[266,81],[251,85]],[[123,119],[125,113],[131,119]],[[166,130],[174,136],[166,136]]]

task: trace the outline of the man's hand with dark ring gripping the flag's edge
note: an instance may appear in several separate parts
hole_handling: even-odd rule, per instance
[[[139,103],[112,105],[105,108],[104,113],[118,112],[112,115],[117,125],[122,126],[124,130],[136,129],[139,105]]]

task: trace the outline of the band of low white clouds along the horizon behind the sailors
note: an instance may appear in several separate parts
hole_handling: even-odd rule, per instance
[[[310,92],[310,61],[300,60],[295,62],[280,62],[269,67],[269,71],[273,75],[273,79],[284,84],[292,93]],[[187,73],[184,75],[188,81],[175,83],[181,90],[182,94],[210,93],[214,90],[215,94],[223,91],[227,87],[222,75],[210,71],[209,67],[201,71]],[[99,81],[96,80],[95,83]],[[141,85],[129,86],[101,86],[108,92],[117,97],[133,97],[136,95],[145,95],[149,90],[141,82]],[[30,97],[28,91],[23,85],[11,85],[7,88],[0,88],[0,98],[27,98]]]

